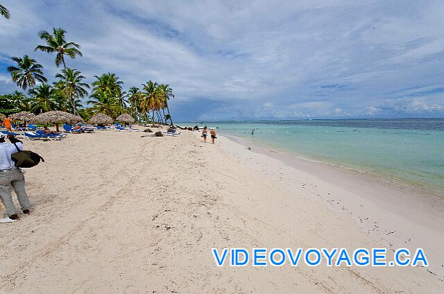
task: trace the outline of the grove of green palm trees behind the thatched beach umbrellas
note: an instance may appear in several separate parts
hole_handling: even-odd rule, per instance
[[[7,12],[0,6],[1,14]],[[140,87],[123,90],[123,81],[114,73],[94,76],[89,85],[87,78],[78,69],[67,67],[67,58],[82,57],[80,45],[67,41],[63,28],[53,28],[51,33],[40,31],[44,44],[35,51],[54,53],[56,67],[60,72],[49,79],[44,76],[42,64],[28,55],[12,57],[15,65],[8,67],[11,79],[22,92],[0,95],[0,113],[33,112],[40,114],[51,110],[61,110],[80,115],[87,121],[98,113],[107,114],[113,119],[121,114],[133,116],[141,123],[167,123],[173,125],[169,112],[169,100],[174,97],[173,89],[167,84],[148,80]]]

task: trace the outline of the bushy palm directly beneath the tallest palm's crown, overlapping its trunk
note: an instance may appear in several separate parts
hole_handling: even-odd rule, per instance
[[[82,82],[82,80],[85,79],[85,76],[82,76],[80,71],[67,67],[66,71],[63,71],[62,74],[57,74],[56,78],[60,78],[60,81],[54,83],[54,85],[56,85],[58,89],[62,89],[62,92],[65,92],[65,94],[68,95],[66,98],[71,104],[71,107],[72,105],[76,107],[76,98],[83,98],[88,94],[87,89],[85,88],[89,89],[89,85]]]

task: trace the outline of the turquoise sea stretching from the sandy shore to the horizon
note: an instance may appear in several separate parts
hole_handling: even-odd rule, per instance
[[[444,119],[225,121],[203,124],[273,150],[396,178],[444,195]],[[253,129],[255,133],[251,135]]]

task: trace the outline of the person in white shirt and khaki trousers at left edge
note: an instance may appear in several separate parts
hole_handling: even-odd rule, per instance
[[[5,136],[0,135],[0,198],[9,218],[17,220],[19,216],[15,210],[14,202],[12,202],[11,189],[14,189],[24,214],[29,214],[31,203],[26,195],[24,175],[20,168],[15,167],[11,159],[12,153],[16,153],[17,148],[22,150],[22,141],[9,135],[8,139],[11,143],[6,143]]]

